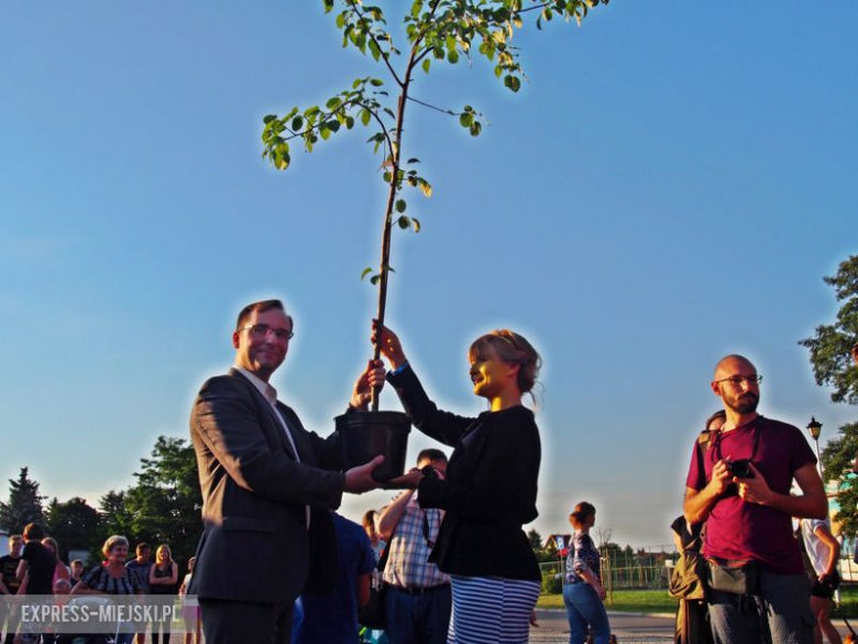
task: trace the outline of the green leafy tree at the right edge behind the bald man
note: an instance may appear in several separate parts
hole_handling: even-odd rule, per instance
[[[837,274],[824,277],[835,290],[840,309],[837,320],[831,325],[820,325],[812,338],[799,343],[811,352],[811,365],[816,384],[828,386],[835,403],[858,404],[858,365],[850,351],[858,340],[858,255],[840,263]],[[858,534],[858,477],[854,476],[854,461],[858,457],[858,423],[847,423],[829,440],[822,454],[825,478],[837,480],[839,511],[835,520],[840,523],[840,532],[855,537]]]

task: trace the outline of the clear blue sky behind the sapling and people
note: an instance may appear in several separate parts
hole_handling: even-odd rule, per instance
[[[856,19],[614,0],[518,32],[517,95],[482,61],[419,78],[418,98],[491,124],[472,139],[409,108],[404,154],[435,195],[394,239],[388,321],[460,413],[483,408],[474,337],[510,327],[541,351],[543,534],[586,499],[614,541],[669,543],[725,353],[757,363],[763,414],[815,415],[824,437],[855,419],[796,341],[833,319],[822,277],[858,252]],[[260,134],[369,74],[321,2],[0,6],[0,480],[28,465],[92,503],[130,484],[158,435],[187,436],[261,297],[296,318],[282,400],[331,430],[370,352],[380,159],[360,130],[278,173]],[[409,460],[427,445],[413,434]]]

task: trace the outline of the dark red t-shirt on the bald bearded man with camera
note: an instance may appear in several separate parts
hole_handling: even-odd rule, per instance
[[[757,432],[759,444],[754,466],[772,491],[789,494],[795,470],[815,465],[816,457],[798,427],[769,418],[723,432],[710,447],[695,444],[685,484],[697,491],[705,488],[719,458],[751,458]],[[698,448],[703,451],[705,472],[700,471]],[[703,554],[721,559],[754,559],[765,570],[780,575],[804,571],[799,544],[792,536],[792,517],[773,507],[744,501],[736,485],[730,485],[712,507]]]

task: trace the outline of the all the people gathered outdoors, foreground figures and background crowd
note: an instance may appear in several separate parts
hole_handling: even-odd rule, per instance
[[[277,400],[270,379],[294,336],[279,301],[244,307],[232,334],[233,368],[209,379],[194,403],[204,532],[180,590],[199,599],[199,612],[183,613],[186,644],[200,622],[209,644],[527,642],[541,587],[522,530],[537,517],[541,461],[539,429],[522,404],[541,365],[536,349],[510,330],[477,338],[469,349],[470,376],[488,410],[460,416],[432,402],[396,334],[373,325],[371,340],[389,369],[370,362],[346,413],[365,411],[373,392],[389,384],[411,424],[452,452],[421,451],[415,468],[385,483],[403,491],[360,526],[336,510],[343,493],[382,485],[373,471],[384,456],[340,471],[336,435],[308,432]],[[858,361],[858,346],[853,354]],[[680,546],[697,548],[707,568],[705,601],[683,602],[683,644],[804,644],[817,619],[816,641],[825,632],[837,643],[825,603],[836,542],[816,459],[795,427],[757,413],[761,380],[746,358],[728,356],[711,383],[724,410],[695,441],[683,515],[674,524]],[[793,481],[801,493],[790,493]],[[595,515],[585,501],[570,515],[575,535],[563,583],[570,644],[612,640],[588,535]],[[813,600],[792,517],[802,520],[817,571]],[[148,546],[139,544],[127,561],[128,541],[112,536],[105,561],[84,572],[59,563],[56,543],[45,537],[30,525],[23,539],[10,539],[10,557],[20,563],[3,561],[0,591],[170,599],[176,591],[178,567],[166,545],[150,561]],[[373,601],[383,629],[359,623],[361,607]],[[14,633],[14,619],[2,616]],[[168,622],[152,625],[154,643],[169,637]],[[131,641],[132,634],[120,638]]]

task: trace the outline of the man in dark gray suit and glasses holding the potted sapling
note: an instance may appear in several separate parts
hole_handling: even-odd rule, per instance
[[[208,380],[194,404],[205,528],[188,593],[199,597],[208,644],[288,644],[293,603],[308,581],[327,510],[339,507],[343,492],[377,487],[371,472],[382,457],[332,471],[333,440],[307,432],[277,401],[268,379],[293,335],[279,301],[244,307],[232,334],[235,365]],[[351,406],[369,402],[367,380],[355,383]],[[333,544],[332,531],[328,536]],[[326,556],[332,560],[334,549]]]

